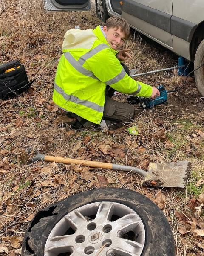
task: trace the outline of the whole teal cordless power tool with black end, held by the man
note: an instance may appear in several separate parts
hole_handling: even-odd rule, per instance
[[[153,108],[153,106],[155,106],[155,105],[166,103],[167,102],[167,91],[165,90],[164,85],[159,85],[157,87],[157,89],[160,92],[160,96],[158,96],[156,99],[136,97],[136,96],[130,95],[127,98],[127,101],[130,104],[140,103],[140,106],[144,109]]]

